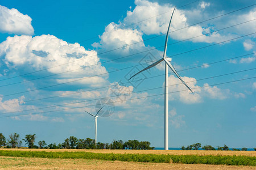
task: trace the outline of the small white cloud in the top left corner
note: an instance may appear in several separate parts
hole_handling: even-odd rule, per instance
[[[20,13],[15,8],[7,8],[0,5],[0,31],[15,33],[18,35],[33,35],[32,19],[28,15]]]

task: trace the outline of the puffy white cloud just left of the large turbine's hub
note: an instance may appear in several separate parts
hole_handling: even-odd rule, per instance
[[[113,50],[111,53],[102,54],[101,57],[117,59],[115,62],[138,61],[147,53],[141,53],[153,49],[150,46],[145,46],[142,39],[142,32],[137,29],[122,28],[122,25],[110,23],[105,32],[100,36],[100,42],[94,42],[92,46],[98,48],[99,53],[104,53],[108,50]],[[160,52],[158,50],[150,51],[156,58],[160,58]],[[130,54],[136,54],[129,56]]]

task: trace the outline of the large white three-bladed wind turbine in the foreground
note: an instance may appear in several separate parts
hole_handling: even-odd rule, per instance
[[[176,7],[175,7],[176,8]],[[175,10],[174,8],[174,10]],[[172,15],[174,15],[174,11],[172,12]],[[147,66],[146,68],[144,68],[143,70],[139,71],[138,73],[134,74],[133,76],[131,76],[131,78],[133,78],[135,75],[142,73],[142,71],[145,71],[147,69],[150,69],[151,67],[154,67],[156,65],[158,65],[160,62],[164,61],[166,63],[166,76],[165,76],[165,81],[164,81],[164,150],[168,150],[168,66],[170,67],[170,69],[174,72],[174,74],[181,80],[181,82],[191,91],[193,92],[188,85],[183,81],[183,79],[181,79],[180,75],[177,74],[177,71],[175,70],[174,66],[172,66],[172,64],[170,63],[170,61],[172,60],[171,58],[167,58],[166,57],[166,49],[167,49],[167,42],[168,42],[168,35],[169,35],[169,29],[170,29],[170,25],[171,25],[171,20],[172,20],[172,16],[170,19],[170,23],[168,26],[168,30],[167,30],[167,34],[166,34],[166,42],[164,45],[164,53],[163,53],[163,58],[159,59],[158,61],[152,63],[150,66]],[[130,78],[130,79],[131,79]],[[129,79],[129,80],[130,80]]]

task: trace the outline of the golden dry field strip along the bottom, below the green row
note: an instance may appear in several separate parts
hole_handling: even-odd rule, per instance
[[[251,166],[138,163],[86,159],[15,158],[0,156],[0,169],[256,169]]]

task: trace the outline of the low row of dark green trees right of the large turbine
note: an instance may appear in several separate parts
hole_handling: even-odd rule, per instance
[[[210,145],[205,145],[203,147],[201,147],[201,143],[194,143],[193,145],[188,145],[187,147],[185,146],[182,146],[181,147],[181,150],[199,150],[199,148],[202,148],[203,150],[219,150],[219,151],[240,151],[239,149],[236,149],[236,148],[232,148],[230,149],[228,146],[224,145],[222,147],[220,146],[217,146],[217,149],[214,148],[213,146],[210,146]],[[241,148],[241,151],[247,151],[248,148],[246,147],[243,147]],[[254,147],[254,151],[256,151],[256,148]]]

